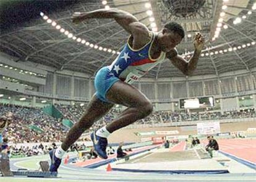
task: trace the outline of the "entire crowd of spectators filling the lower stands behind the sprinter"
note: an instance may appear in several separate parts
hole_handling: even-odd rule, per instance
[[[12,122],[5,131],[11,143],[40,143],[40,142],[61,142],[66,136],[69,128],[62,125],[62,119],[68,118],[72,122],[78,122],[85,112],[86,105],[59,105],[55,107],[62,113],[63,117],[56,119],[47,115],[42,109],[24,107],[11,104],[0,104],[0,115],[7,112],[13,114]],[[97,130],[101,126],[113,121],[122,110],[119,107],[113,107],[105,117],[95,122],[93,126],[86,132],[90,133]],[[231,112],[171,112],[157,111],[150,114],[148,117],[137,121],[135,124],[153,124],[153,123],[171,123],[171,122],[190,122],[200,120],[221,120],[227,118],[249,118],[256,117],[255,109],[231,111]],[[38,132],[30,126],[36,126],[43,130]],[[81,141],[81,139],[80,139]]]

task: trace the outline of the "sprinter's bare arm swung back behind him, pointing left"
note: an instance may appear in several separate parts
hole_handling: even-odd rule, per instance
[[[124,10],[116,8],[98,9],[90,12],[75,12],[72,16],[74,23],[80,23],[86,19],[114,19],[121,25],[128,33],[134,34],[137,30],[147,31],[148,28],[139,22],[134,15]]]

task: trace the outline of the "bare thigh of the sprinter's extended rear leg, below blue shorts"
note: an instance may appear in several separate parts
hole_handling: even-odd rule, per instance
[[[99,120],[101,117],[106,115],[109,110],[114,106],[114,104],[103,102],[96,94],[93,95],[91,101],[89,102],[83,117],[90,120]]]

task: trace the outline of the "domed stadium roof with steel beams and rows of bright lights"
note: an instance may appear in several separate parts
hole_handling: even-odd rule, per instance
[[[145,6],[148,2],[151,6]],[[192,37],[200,31],[210,41],[194,75],[250,72],[256,67],[256,4],[253,0],[6,1],[1,5],[0,50],[19,57],[20,62],[36,62],[56,70],[93,76],[99,68],[113,62],[129,35],[113,19],[90,19],[74,25],[70,17],[73,12],[105,6],[130,12],[148,28],[161,30],[164,23],[172,20],[181,23],[186,37],[177,49],[186,59],[194,50]],[[47,15],[45,19],[44,15]],[[182,76],[166,60],[145,77]]]

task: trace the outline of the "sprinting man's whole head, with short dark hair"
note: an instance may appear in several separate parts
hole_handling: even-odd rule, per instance
[[[161,51],[171,51],[177,44],[181,43],[184,35],[185,33],[181,25],[176,22],[166,23],[159,37]]]

